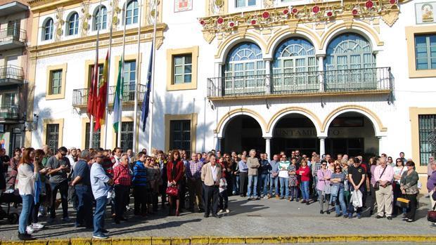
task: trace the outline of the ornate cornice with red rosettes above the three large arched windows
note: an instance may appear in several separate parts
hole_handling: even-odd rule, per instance
[[[203,26],[203,37],[212,42],[220,33],[240,33],[245,36],[248,29],[265,29],[287,25],[290,32],[300,24],[323,23],[345,20],[365,20],[381,18],[387,25],[392,26],[398,19],[399,2],[401,0],[344,0],[312,3],[302,6],[282,6],[264,8],[242,13],[224,13],[199,18],[199,25]]]

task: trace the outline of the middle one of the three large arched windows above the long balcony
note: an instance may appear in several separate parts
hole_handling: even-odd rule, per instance
[[[299,37],[278,45],[273,62],[273,91],[317,90],[317,64],[314,46]]]

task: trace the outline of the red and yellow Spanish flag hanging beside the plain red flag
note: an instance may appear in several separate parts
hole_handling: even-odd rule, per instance
[[[98,87],[98,98],[96,106],[96,124],[94,130],[98,131],[101,125],[105,124],[106,100],[108,99],[108,63],[109,51],[106,54],[105,64],[103,65],[103,76]]]

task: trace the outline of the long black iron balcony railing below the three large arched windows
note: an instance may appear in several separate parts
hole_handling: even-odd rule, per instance
[[[208,97],[392,91],[390,67],[260,74],[207,79]]]

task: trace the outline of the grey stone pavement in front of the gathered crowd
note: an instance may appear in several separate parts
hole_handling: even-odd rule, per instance
[[[371,197],[368,197],[371,199]],[[368,200],[369,201],[369,200]],[[133,216],[120,225],[113,223],[108,216],[106,228],[110,237],[190,237],[190,236],[271,236],[271,235],[334,235],[334,234],[435,234],[426,219],[429,199],[419,201],[416,222],[404,223],[402,218],[392,220],[368,217],[368,208],[361,219],[335,218],[335,213],[320,214],[319,204],[296,203],[280,199],[261,199],[247,201],[242,197],[229,197],[230,213],[222,218],[203,218],[203,213],[181,213],[179,217],[167,217],[167,211],[159,211],[148,218]],[[132,201],[131,206],[133,209]],[[109,209],[109,207],[108,207]],[[69,210],[72,210],[70,207]],[[55,223],[34,234],[38,239],[62,239],[72,237],[91,237],[91,230],[75,228],[74,222],[61,223],[58,216]],[[110,213],[109,211],[107,213]],[[75,213],[70,213],[75,218]],[[45,218],[41,219],[45,223]],[[18,225],[9,225],[0,220],[0,239],[16,239]]]

